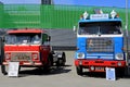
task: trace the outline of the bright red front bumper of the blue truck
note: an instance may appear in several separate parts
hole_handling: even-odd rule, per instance
[[[105,67],[125,69],[126,61],[75,60],[75,65],[89,69],[90,72],[105,72]]]

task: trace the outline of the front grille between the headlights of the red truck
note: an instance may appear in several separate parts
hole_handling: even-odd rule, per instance
[[[11,53],[11,61],[30,61],[31,53],[30,52],[13,52]]]

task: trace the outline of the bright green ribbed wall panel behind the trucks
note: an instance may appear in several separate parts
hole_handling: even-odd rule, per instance
[[[122,18],[122,25],[125,26],[125,9],[77,5],[1,4],[0,28],[72,29],[74,25],[77,25],[80,15],[84,11],[93,13],[94,9],[102,9],[104,13],[110,13],[115,9]]]

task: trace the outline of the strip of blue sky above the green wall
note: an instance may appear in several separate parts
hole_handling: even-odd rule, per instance
[[[40,4],[41,0],[0,0],[4,4]],[[130,0],[53,0],[54,4],[94,5],[126,8],[126,1],[130,8]]]

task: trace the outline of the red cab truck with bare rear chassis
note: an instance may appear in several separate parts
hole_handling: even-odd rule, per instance
[[[9,62],[20,66],[36,66],[49,72],[53,65],[65,65],[65,52],[55,52],[50,46],[51,37],[43,29],[10,29],[4,36],[4,58],[1,71],[5,75]]]

